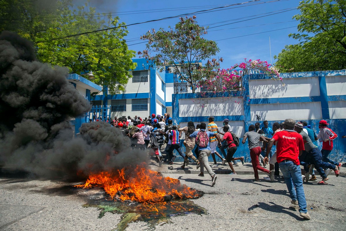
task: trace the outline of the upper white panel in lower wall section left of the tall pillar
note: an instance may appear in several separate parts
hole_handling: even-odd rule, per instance
[[[179,99],[179,116],[227,116],[244,115],[243,99],[238,97]],[[194,100],[194,101],[192,101]],[[239,102],[239,103],[238,103]],[[205,107],[200,105],[207,104]]]

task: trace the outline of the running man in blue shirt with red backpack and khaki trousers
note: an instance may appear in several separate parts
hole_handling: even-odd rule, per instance
[[[213,172],[213,170],[209,166],[208,157],[211,154],[209,138],[215,137],[216,140],[218,141],[218,143],[221,145],[220,137],[217,133],[206,131],[206,124],[205,123],[201,123],[200,131],[193,132],[190,135],[190,137],[195,137],[198,152],[199,152],[198,160],[200,162],[201,173],[198,176],[204,177],[204,167],[206,167],[207,172],[211,176],[211,187],[213,187],[216,183],[217,176],[216,176],[215,172]]]

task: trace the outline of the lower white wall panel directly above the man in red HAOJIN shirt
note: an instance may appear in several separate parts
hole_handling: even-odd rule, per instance
[[[251,121],[256,121],[256,115],[264,120],[285,120],[291,118],[321,119],[322,110],[320,102],[311,103],[285,103],[285,104],[255,104],[250,106]]]

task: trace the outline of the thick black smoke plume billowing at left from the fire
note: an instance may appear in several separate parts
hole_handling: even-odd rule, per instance
[[[0,34],[0,163],[3,169],[47,176],[122,168],[129,140],[105,122],[83,124],[74,137],[70,120],[84,115],[90,103],[66,80],[68,69],[40,63],[33,44],[15,33]]]

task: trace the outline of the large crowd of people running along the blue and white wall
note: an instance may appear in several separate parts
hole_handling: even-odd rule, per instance
[[[198,176],[204,177],[204,168],[206,168],[211,176],[211,186],[214,186],[217,176],[212,168],[218,166],[215,155],[221,159],[222,165],[228,163],[232,170],[231,174],[236,174],[234,167],[238,165],[237,160],[244,165],[244,157],[233,157],[239,146],[239,138],[231,131],[229,119],[226,118],[223,122],[222,131],[218,130],[213,116],[209,117],[208,124],[200,123],[195,126],[190,121],[187,126],[181,128],[172,125],[169,114],[164,116],[152,114],[150,118],[145,119],[137,116],[134,119],[128,116],[126,119],[123,116],[119,119],[115,118],[111,124],[131,139],[131,148],[148,149],[150,156],[157,159],[160,167],[163,162],[167,162],[168,165],[173,164],[174,150],[184,159],[182,169],[189,164],[190,158],[196,162],[197,169],[200,168]],[[255,175],[253,181],[260,181],[258,170],[269,175],[264,177],[264,180],[274,181],[275,176],[279,176],[280,169],[289,190],[291,203],[299,206],[300,216],[310,219],[306,208],[303,181],[317,181],[314,169],[322,178],[318,184],[327,184],[331,171],[334,171],[337,177],[339,176],[342,163],[328,159],[328,155],[333,150],[333,140],[337,135],[328,127],[325,120],[319,122],[317,135],[311,125],[305,121],[295,122],[293,119],[285,119],[281,124],[273,123],[272,128],[268,126],[268,121],[264,121],[263,124],[262,128],[260,123],[250,125],[242,140],[243,144],[248,140]],[[223,135],[222,138],[220,135]],[[322,142],[321,150],[318,148],[318,140]],[[185,153],[181,151],[182,143],[185,146]],[[161,154],[164,144],[166,144],[163,151],[165,158]],[[276,146],[275,152],[272,151],[273,145]],[[224,157],[216,151],[217,147]],[[194,148],[195,156],[192,153]],[[214,161],[212,166],[208,161],[210,155]],[[270,170],[264,168],[268,163]],[[302,169],[300,165],[303,166]]]

